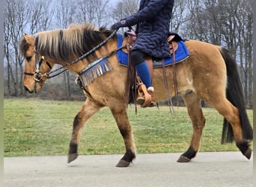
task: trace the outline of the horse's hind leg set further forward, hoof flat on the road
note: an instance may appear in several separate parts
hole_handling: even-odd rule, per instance
[[[183,99],[186,103],[189,117],[192,120],[193,134],[189,149],[180,156],[177,162],[189,162],[195,157],[196,153],[198,153],[205,124],[205,118],[201,108],[201,99],[195,95],[195,93],[183,96]]]

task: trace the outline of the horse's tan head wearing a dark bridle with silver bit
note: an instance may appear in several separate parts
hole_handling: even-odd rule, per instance
[[[36,51],[36,38],[23,34],[20,41],[20,52],[24,55],[24,88],[30,93],[38,93],[48,78],[47,73],[52,70],[53,63],[46,61],[43,55]]]

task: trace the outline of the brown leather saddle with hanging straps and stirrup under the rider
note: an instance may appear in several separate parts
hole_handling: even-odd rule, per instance
[[[123,40],[122,46],[127,46],[125,48],[123,48],[123,52],[127,53],[129,56],[129,49],[132,48],[133,44],[135,43],[136,40],[136,34],[133,30],[129,30],[126,31],[124,34],[125,38]],[[178,49],[178,44],[177,41],[182,40],[181,37],[178,34],[172,33],[170,32],[168,34],[168,43],[169,43],[169,47],[170,47],[170,53],[171,55],[173,55],[173,66],[175,67],[175,57],[174,57],[174,53],[177,51]],[[150,70],[150,77],[151,79],[153,79],[153,58],[150,56],[147,56],[144,58],[144,61],[147,63],[147,67]],[[128,63],[130,64],[130,63]],[[164,76],[165,76],[165,63],[162,60],[162,68],[164,71]],[[146,101],[151,100],[151,96],[150,94],[147,92],[147,88],[144,85],[144,83],[141,81],[141,79],[139,78],[139,76],[134,73],[134,67],[128,65],[128,69],[129,69],[129,75],[130,78],[132,79],[132,75],[133,75],[133,80],[134,80],[134,76],[135,76],[135,81],[133,81],[133,84],[137,85],[135,86],[135,98],[136,100],[138,100],[139,98],[144,98],[144,104],[141,104],[141,107],[151,107],[154,106],[155,104],[153,104],[153,102],[148,102],[148,104],[145,104]],[[174,68],[175,71],[175,68]],[[176,73],[174,72],[174,85],[175,85],[175,95],[177,95],[177,80],[176,80]],[[168,88],[167,85],[167,81],[166,81],[166,76],[165,76],[165,86],[166,88]],[[137,88],[137,91],[136,91]]]

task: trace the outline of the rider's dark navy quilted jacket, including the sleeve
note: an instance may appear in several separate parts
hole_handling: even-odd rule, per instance
[[[127,26],[137,24],[138,34],[132,50],[139,49],[156,58],[167,58],[167,35],[174,0],[141,0],[137,13],[125,18]]]

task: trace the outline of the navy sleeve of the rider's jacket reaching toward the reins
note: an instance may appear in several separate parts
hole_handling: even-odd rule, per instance
[[[137,13],[133,13],[131,16],[125,18],[127,26],[132,26],[137,24],[138,22],[143,22],[148,19],[152,19],[162,10],[162,7],[165,6],[166,3],[171,2],[170,0],[151,0],[147,6],[143,9],[138,10]]]

